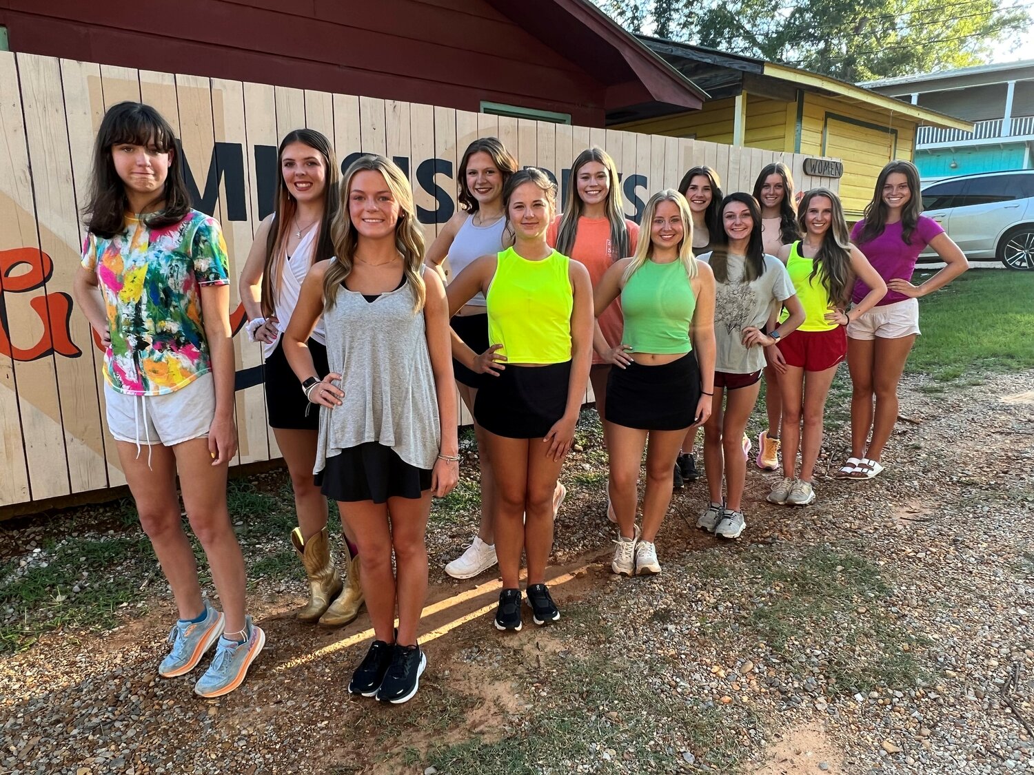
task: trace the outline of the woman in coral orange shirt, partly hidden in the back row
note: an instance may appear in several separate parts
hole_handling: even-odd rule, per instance
[[[617,168],[602,148],[594,146],[578,154],[571,165],[571,180],[574,185],[568,190],[564,214],[549,225],[546,241],[557,252],[585,265],[595,291],[614,261],[635,252],[639,224],[625,217]],[[594,329],[589,381],[601,420],[606,414],[611,366],[629,363],[621,349],[622,327],[621,305],[614,302],[597,317]],[[606,429],[604,423],[604,436]]]

